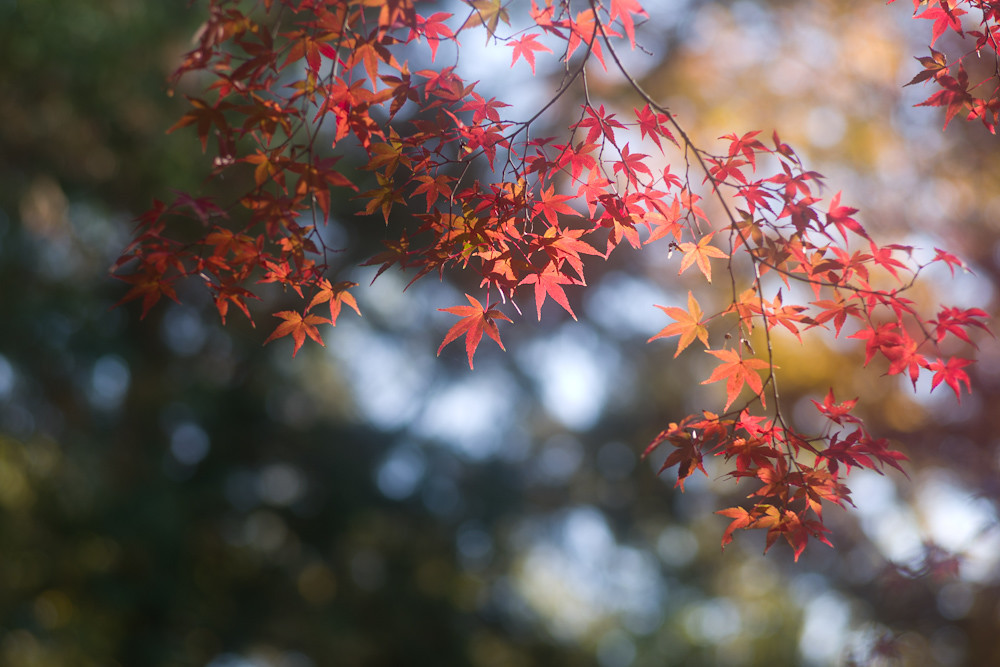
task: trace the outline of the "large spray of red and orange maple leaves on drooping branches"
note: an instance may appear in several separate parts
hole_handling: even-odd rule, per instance
[[[360,314],[350,291],[357,285],[334,281],[333,249],[320,233],[331,193],[345,191],[360,202],[359,217],[402,228],[365,262],[378,267],[376,279],[398,267],[413,280],[447,272],[478,282],[484,298],[467,294],[468,305],[441,309],[460,319],[438,349],[464,337],[472,367],[484,334],[503,349],[498,322],[513,321],[503,307],[520,313],[519,300],[531,298],[540,319],[551,299],[575,319],[570,297],[586,285],[591,262],[625,246],[668,244],[679,251],[678,274],[694,268],[712,283],[726,272],[728,286],[717,288],[726,305],[706,313],[689,292],[686,308],[658,306],[674,321],[650,340],[678,336],[675,356],[699,342],[715,360],[704,384],[724,382],[725,403],[719,414],[670,424],[647,453],[674,448],[664,469],[677,466],[682,489],[705,471],[707,454],[721,457],[732,478],[757,484],[749,507],[720,512],[732,519],[723,545],[736,529],[766,530],[768,547],[784,538],[796,558],[810,538],[828,543],[823,505],[850,503],[844,476],[856,467],[899,469],[905,457],[869,433],[855,401],[836,402],[832,389],[814,402],[827,422],[822,432],[792,428],[781,411],[771,333],[778,327],[801,340],[846,330],[864,342],[866,365],[881,359],[887,374],[914,386],[929,373],[933,387],[944,383],[960,395],[962,385],[971,388],[971,360],[955,343],[972,345],[970,333],[986,329],[987,314],[942,306],[927,317],[906,296],[926,267],[954,271],[964,268],[960,260],[937,250],[921,263],[912,248],[877,244],[840,193],[824,203],[822,177],[777,133],[767,143],[757,131],[730,134],[714,152],[696,146],[621,65],[616,49],[636,47],[636,22],[646,18],[636,0],[533,0],[526,17],[533,27],[507,35],[501,0],[465,0],[464,16],[425,15],[417,5],[266,0],[244,12],[240,3],[211,1],[175,75],[197,71],[211,82],[204,97],[189,98],[191,110],[171,131],[193,127],[203,150],[217,147],[214,175],[244,178],[249,189],[227,208],[183,193],[155,202],[115,266],[131,286],[122,302],[141,300],[145,316],[161,297],[177,299],[178,281],[196,278],[223,321],[231,306],[251,318],[255,286],[277,283],[301,306],[274,313],[282,321],[265,342],[289,336],[293,355],[307,337],[322,344],[319,327],[335,325],[343,305]],[[585,95],[563,138],[537,137],[533,124],[550,105],[527,121],[507,119],[505,103],[481,95],[454,66],[434,64],[442,44],[457,49],[459,36],[473,30],[510,47],[511,66],[523,60],[532,75],[542,58],[558,63],[565,76],[553,101],[593,63],[618,68],[641,103],[609,107]],[[411,71],[406,55],[417,48],[432,65]],[[938,69],[924,78],[946,85],[936,58]],[[961,87],[961,76],[956,81]],[[684,155],[684,177],[665,166],[674,149]],[[342,168],[344,156],[359,154],[360,170]],[[472,178],[483,163],[490,178]],[[701,183],[692,183],[692,171]],[[719,219],[700,207],[705,196]],[[811,300],[789,301],[793,283]],[[721,322],[733,333],[720,341],[710,326]],[[758,334],[766,341],[761,356],[751,345]]]

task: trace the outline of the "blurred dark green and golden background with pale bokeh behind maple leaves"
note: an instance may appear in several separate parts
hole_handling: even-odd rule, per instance
[[[975,271],[916,298],[995,312],[997,139],[912,107],[930,93],[901,86],[929,27],[908,5],[646,4],[653,55],[623,55],[699,141],[778,129],[881,241]],[[166,77],[204,10],[0,0],[0,664],[1000,664],[991,338],[960,404],[862,369],[843,341],[778,341],[789,406],[831,384],[860,396],[912,459],[909,480],[852,475],[857,509],[827,514],[836,548],[793,564],[783,544],[763,556],[763,535],[720,551],[712,512],[742,494],[718,466],[680,494],[662,458],[640,460],[720,398],[697,384],[700,355],[645,344],[667,324],[652,304],[693,285],[657,246],[594,265],[571,294],[580,322],[548,306],[502,327],[508,353],[484,342],[474,372],[460,344],[434,356],[454,321],[436,309],[466,288],[403,294],[396,271],[294,360],[287,339],[261,345],[280,294],[257,329],[221,328],[194,285],[144,320],[113,309],[131,220],[207,174],[193,132],[164,134],[186,110]],[[520,63],[513,87],[509,57],[459,66],[530,110],[558,68],[540,59],[528,84]],[[596,97],[638,105],[591,75]],[[365,286],[354,267],[384,227],[339,206],[336,268]]]

